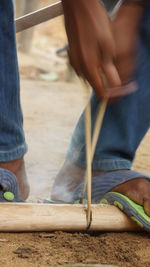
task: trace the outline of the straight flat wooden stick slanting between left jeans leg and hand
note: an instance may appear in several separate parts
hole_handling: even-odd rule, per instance
[[[17,18],[15,20],[16,32],[24,31],[47,20],[56,18],[62,14],[63,8],[61,1],[59,1],[53,5],[49,5],[45,8]]]

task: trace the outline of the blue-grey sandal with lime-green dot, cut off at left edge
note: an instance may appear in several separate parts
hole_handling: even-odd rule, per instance
[[[19,202],[18,182],[16,176],[0,168],[0,202]]]

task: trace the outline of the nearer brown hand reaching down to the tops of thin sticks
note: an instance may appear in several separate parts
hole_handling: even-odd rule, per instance
[[[68,52],[76,73],[90,83],[100,98],[124,94],[119,88],[121,80],[114,64],[115,42],[105,8],[98,0],[62,0],[62,3]],[[102,72],[112,89],[105,88]]]

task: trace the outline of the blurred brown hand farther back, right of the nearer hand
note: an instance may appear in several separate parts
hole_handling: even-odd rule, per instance
[[[144,6],[129,3],[122,5],[112,22],[116,45],[115,64],[122,83],[133,79],[138,65],[137,44]]]

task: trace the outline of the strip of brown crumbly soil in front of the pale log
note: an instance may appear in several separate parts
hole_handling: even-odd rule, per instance
[[[1,266],[6,267],[10,264],[15,267],[55,267],[76,263],[150,266],[148,234],[1,234],[0,247]]]

